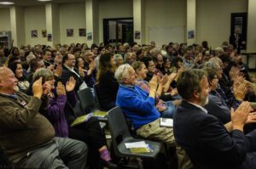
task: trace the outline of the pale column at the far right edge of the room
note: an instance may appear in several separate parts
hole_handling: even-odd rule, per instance
[[[247,18],[247,53],[256,52],[256,1],[248,0],[248,18]]]

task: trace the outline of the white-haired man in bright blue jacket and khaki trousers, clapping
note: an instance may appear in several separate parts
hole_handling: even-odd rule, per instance
[[[160,112],[154,106],[155,92],[158,86],[156,76],[148,83],[149,93],[141,87],[137,87],[136,73],[131,65],[120,65],[115,72],[115,78],[119,82],[116,105],[132,122],[137,135],[163,141],[172,147],[176,146],[172,128],[160,127]],[[180,168],[189,165],[187,156],[179,147],[177,147],[177,158]]]

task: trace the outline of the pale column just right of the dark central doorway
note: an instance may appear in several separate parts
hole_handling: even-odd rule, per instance
[[[142,44],[145,41],[143,0],[133,0],[133,39]]]

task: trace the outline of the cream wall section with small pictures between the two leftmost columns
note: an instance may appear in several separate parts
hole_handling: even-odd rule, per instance
[[[42,30],[46,30],[44,5],[24,8],[26,44],[46,44],[47,37],[42,36]],[[31,36],[31,31],[38,31],[38,38]]]

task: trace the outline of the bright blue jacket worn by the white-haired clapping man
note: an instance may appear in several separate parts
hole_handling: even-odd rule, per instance
[[[116,105],[122,108],[125,117],[131,120],[135,130],[160,117],[154,106],[154,98],[148,97],[148,93],[136,85],[134,87],[119,85]]]

